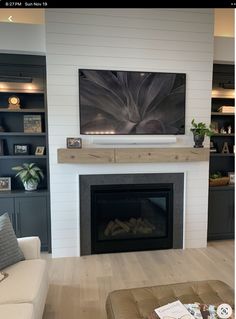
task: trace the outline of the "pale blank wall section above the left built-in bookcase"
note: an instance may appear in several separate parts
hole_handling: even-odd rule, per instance
[[[0,52],[45,54],[45,25],[0,22]]]

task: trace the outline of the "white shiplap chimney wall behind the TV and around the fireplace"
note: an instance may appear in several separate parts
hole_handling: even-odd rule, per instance
[[[46,56],[53,255],[80,253],[79,174],[185,172],[185,246],[205,246],[208,162],[62,165],[56,152],[79,136],[79,68],[186,73],[186,135],[174,147],[192,146],[191,119],[210,121],[213,10],[48,9]]]

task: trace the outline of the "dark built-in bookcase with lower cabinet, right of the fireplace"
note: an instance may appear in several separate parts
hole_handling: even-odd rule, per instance
[[[232,84],[233,87],[234,65],[215,63],[212,80],[211,123],[219,133],[212,135],[210,139],[212,149],[217,152],[210,152],[209,175],[220,172],[222,177],[226,177],[228,172],[233,174],[234,171],[235,94],[233,88],[226,88],[227,84]],[[218,111],[221,107],[224,109],[227,106],[230,107],[225,108],[227,113]],[[221,133],[222,130],[230,134]],[[221,150],[230,150],[231,153],[220,153]],[[224,181],[227,183],[232,179],[233,176]],[[217,181],[209,182],[207,239],[234,238],[234,186],[210,186],[214,183],[217,184]]]

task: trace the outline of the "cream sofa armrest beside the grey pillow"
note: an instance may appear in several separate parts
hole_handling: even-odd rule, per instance
[[[41,242],[39,237],[22,237],[17,238],[17,241],[25,259],[40,258]]]

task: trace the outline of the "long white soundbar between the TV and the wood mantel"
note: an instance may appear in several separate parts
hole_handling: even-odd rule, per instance
[[[175,135],[170,136],[93,136],[91,138],[92,144],[101,145],[116,145],[116,144],[174,144],[177,138]]]

